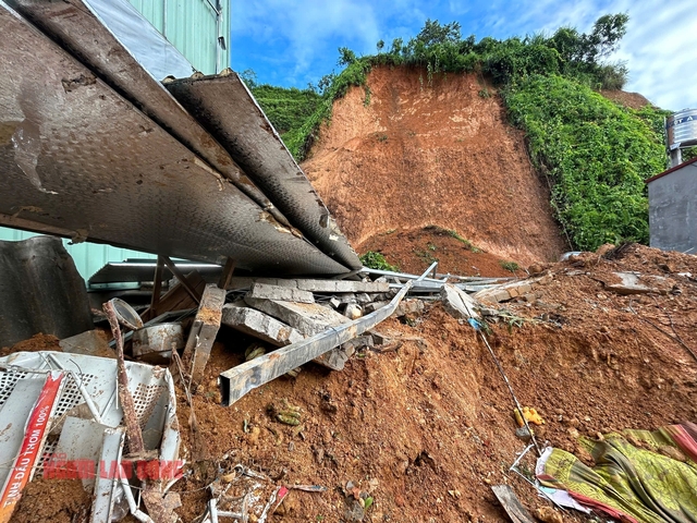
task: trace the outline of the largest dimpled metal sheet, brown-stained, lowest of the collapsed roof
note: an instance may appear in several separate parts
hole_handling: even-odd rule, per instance
[[[0,34],[3,221],[257,272],[345,271],[2,1]]]

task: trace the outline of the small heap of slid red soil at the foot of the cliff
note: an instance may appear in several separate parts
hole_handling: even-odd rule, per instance
[[[517,276],[526,272],[518,264],[485,253],[453,230],[430,226],[415,231],[387,231],[369,238],[357,251],[382,254],[401,271],[420,275],[433,262],[438,272],[457,276]]]

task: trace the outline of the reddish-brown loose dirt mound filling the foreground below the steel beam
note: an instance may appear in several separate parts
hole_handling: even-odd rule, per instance
[[[489,341],[524,405],[546,419],[540,441],[588,462],[578,435],[657,428],[697,418],[697,257],[632,245],[603,257],[587,253],[540,267],[534,303],[500,306]],[[663,294],[617,295],[616,271],[663,278]],[[211,476],[242,463],[291,489],[271,521],[357,521],[347,516],[347,482],[375,503],[364,521],[508,521],[490,485],[513,485],[528,509],[545,504],[508,467],[525,443],[514,435],[513,403],[474,330],[436,304],[408,325],[394,318],[379,330],[401,340],[387,352],[366,351],[341,373],[307,365],[232,408],[217,404],[218,373],[242,362],[249,340],[222,332],[205,390],[194,399],[210,465],[193,465],[174,489],[185,521],[203,513]],[[180,398],[179,417],[188,409]],[[278,423],[269,405],[301,409],[302,425]],[[185,434],[182,457],[191,460]],[[196,460],[194,460],[196,461]],[[220,469],[218,469],[220,466]],[[534,467],[531,459],[522,470]],[[239,492],[236,495],[240,495]],[[265,497],[260,502],[266,502]],[[586,521],[564,515],[564,521]]]

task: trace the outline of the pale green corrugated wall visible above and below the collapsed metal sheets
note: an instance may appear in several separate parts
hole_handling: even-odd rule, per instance
[[[129,0],[196,70],[215,74],[230,66],[230,0]],[[216,22],[216,4],[220,22]],[[223,38],[224,49],[219,37]],[[218,62],[218,63],[217,63]],[[0,240],[20,241],[35,236],[30,232],[0,228]],[[151,254],[95,243],[63,244],[75,260],[85,281],[108,262],[126,258],[154,258]]]

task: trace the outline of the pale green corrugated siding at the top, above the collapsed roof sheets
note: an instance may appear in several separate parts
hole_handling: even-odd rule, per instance
[[[201,73],[215,74],[229,66],[230,0],[129,1]],[[213,8],[217,1],[222,12],[220,23]],[[225,49],[219,36],[224,38]]]

